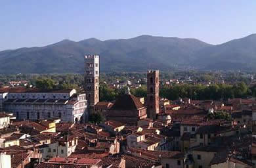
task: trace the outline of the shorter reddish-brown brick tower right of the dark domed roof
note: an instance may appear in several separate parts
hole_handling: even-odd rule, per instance
[[[148,71],[146,104],[148,117],[156,119],[159,113],[159,70]]]

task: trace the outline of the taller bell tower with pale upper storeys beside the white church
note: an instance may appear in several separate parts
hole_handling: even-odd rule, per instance
[[[85,55],[85,94],[89,108],[99,101],[100,58],[98,55]]]

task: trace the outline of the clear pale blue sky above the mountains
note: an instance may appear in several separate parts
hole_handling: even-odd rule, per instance
[[[0,1],[0,51],[142,34],[212,44],[256,33],[255,0]]]

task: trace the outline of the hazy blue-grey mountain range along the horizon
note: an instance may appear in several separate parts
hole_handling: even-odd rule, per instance
[[[102,72],[256,71],[256,34],[211,45],[191,38],[140,35],[131,39],[65,39],[45,47],[0,51],[0,74],[83,73],[84,55],[100,55]]]

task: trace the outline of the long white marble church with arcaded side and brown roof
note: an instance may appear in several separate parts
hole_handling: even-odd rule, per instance
[[[47,90],[12,88],[0,91],[3,110],[12,112],[16,119],[54,119],[86,121],[88,119],[85,94],[75,89]],[[3,95],[3,94],[2,94]]]

